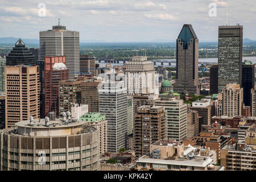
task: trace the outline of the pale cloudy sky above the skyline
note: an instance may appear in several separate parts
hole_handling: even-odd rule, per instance
[[[226,24],[227,0],[0,0],[0,37],[39,39],[39,31],[60,23],[80,32],[80,42],[174,41],[184,23],[192,24],[199,41],[217,42]],[[209,4],[217,16],[209,16]],[[39,3],[46,16],[39,16]],[[41,11],[42,12],[42,11]],[[229,0],[228,23],[243,25],[243,38],[256,40],[255,0]]]

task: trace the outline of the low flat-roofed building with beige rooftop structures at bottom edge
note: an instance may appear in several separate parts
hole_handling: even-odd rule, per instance
[[[154,171],[223,171],[223,166],[213,166],[214,151],[197,152],[175,140],[160,140],[150,146],[150,152],[137,160],[138,170]],[[215,154],[216,155],[216,154]]]

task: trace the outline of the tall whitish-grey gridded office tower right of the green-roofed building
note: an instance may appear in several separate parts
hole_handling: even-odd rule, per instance
[[[127,147],[127,89],[124,81],[101,82],[99,111],[108,120],[108,152]]]

